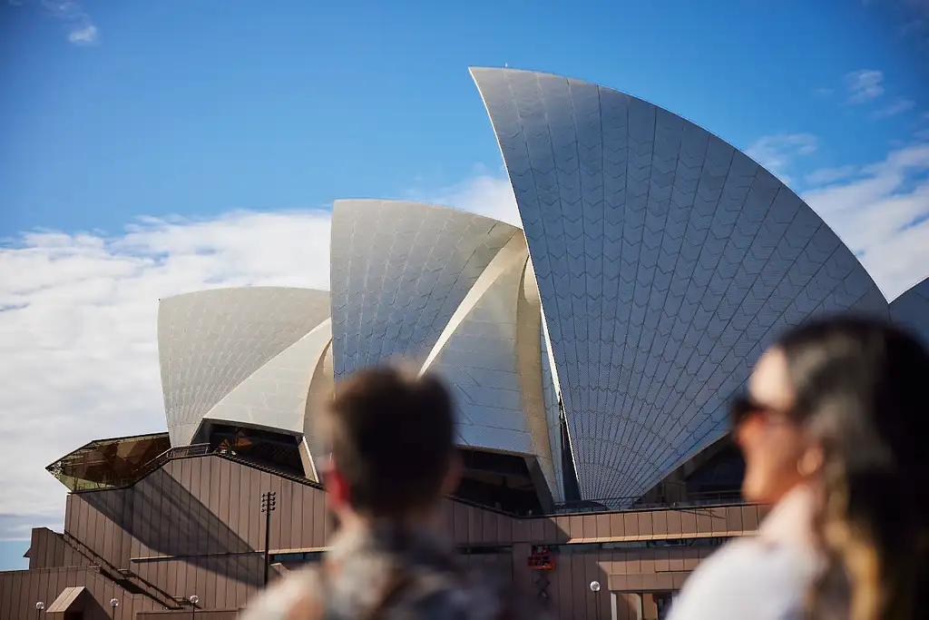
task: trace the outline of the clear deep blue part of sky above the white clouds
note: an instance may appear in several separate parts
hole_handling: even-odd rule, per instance
[[[450,4],[88,1],[98,45],[81,48],[40,3],[2,7],[0,231],[322,206],[496,168],[469,65],[613,86],[743,148],[815,131],[811,166],[877,159],[929,105],[921,38],[889,2]],[[885,95],[847,105],[862,69]],[[895,98],[917,105],[870,117]]]

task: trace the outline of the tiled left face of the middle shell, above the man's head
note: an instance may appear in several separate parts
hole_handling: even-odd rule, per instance
[[[330,285],[335,378],[421,365],[493,257],[521,232],[434,204],[338,200]]]

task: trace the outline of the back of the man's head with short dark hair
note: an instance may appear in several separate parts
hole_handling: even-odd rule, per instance
[[[326,417],[352,508],[395,517],[438,501],[455,426],[441,381],[392,367],[363,370],[336,386]]]

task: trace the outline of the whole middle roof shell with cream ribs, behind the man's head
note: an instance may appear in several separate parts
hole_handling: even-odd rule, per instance
[[[458,442],[536,458],[560,500],[522,231],[434,204],[342,200],[332,234],[335,378],[387,362],[435,372]]]

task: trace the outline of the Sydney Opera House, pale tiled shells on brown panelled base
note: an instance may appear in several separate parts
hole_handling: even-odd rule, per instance
[[[444,509],[466,561],[553,617],[659,618],[764,514],[739,497],[726,402],[772,339],[837,310],[929,338],[929,281],[888,303],[801,198],[722,139],[602,86],[472,75],[522,228],[336,201],[331,291],[162,299],[166,432],[49,466],[71,490],[64,529],[34,530],[30,569],[0,574],[0,617],[234,618],[266,567],[273,580],[326,547],[322,400],[399,361],[456,395],[464,481]]]

